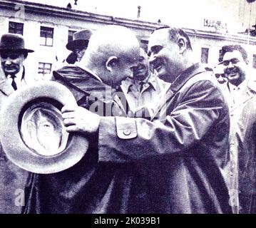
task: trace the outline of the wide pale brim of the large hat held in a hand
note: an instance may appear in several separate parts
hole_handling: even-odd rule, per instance
[[[88,140],[78,133],[70,133],[66,147],[51,156],[41,155],[26,145],[21,136],[21,115],[29,104],[42,100],[58,110],[63,105],[76,105],[71,91],[60,83],[42,82],[16,90],[1,108],[1,145],[9,160],[24,170],[41,174],[61,172],[81,160],[88,150]]]

